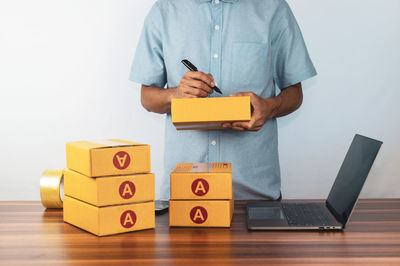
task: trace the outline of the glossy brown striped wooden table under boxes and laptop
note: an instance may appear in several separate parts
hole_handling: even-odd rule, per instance
[[[244,202],[231,229],[169,228],[96,237],[38,202],[0,202],[0,265],[400,265],[400,199],[360,200],[344,232],[249,232]]]

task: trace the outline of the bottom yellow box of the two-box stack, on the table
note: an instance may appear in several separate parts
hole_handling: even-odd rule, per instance
[[[170,200],[169,226],[230,227],[233,208],[233,199]]]

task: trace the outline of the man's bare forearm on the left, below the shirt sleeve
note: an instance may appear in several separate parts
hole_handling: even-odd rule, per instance
[[[141,102],[143,107],[149,112],[159,114],[171,112],[171,98],[175,89],[142,85]]]

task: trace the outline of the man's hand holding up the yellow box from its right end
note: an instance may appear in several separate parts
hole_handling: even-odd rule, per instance
[[[233,122],[224,123],[222,127],[232,128],[238,131],[258,131],[263,125],[271,118],[276,116],[276,111],[281,104],[280,97],[275,98],[261,98],[253,92],[239,92],[230,95],[231,97],[250,96],[251,106],[253,113],[249,122]]]

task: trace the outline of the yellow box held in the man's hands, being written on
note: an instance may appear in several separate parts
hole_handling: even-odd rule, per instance
[[[172,99],[171,115],[178,130],[222,129],[224,122],[250,121],[250,97]]]

